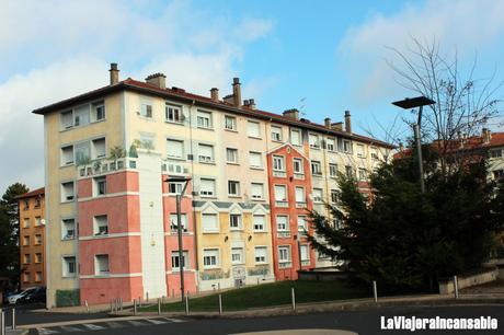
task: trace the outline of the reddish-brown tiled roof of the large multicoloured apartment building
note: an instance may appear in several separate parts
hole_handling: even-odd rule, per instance
[[[358,141],[370,143],[370,145],[386,147],[389,149],[396,148],[393,145],[387,143],[385,141],[380,141],[380,140],[377,140],[370,137],[366,137],[366,136],[362,136],[362,135],[357,135],[357,134],[348,134],[343,130],[330,129],[323,125],[316,124],[307,119],[296,120],[296,119],[285,117],[284,115],[280,115],[280,114],[275,114],[275,113],[261,111],[261,109],[252,109],[248,106],[243,106],[242,108],[237,108],[232,104],[227,103],[225,101],[215,102],[208,96],[188,93],[185,90],[179,89],[179,88],[161,89],[153,84],[142,82],[142,81],[137,81],[131,78],[119,81],[116,84],[103,86],[98,90],[93,90],[93,91],[90,91],[90,92],[67,99],[67,100],[59,101],[57,103],[34,109],[33,113],[45,115],[51,112],[69,108],[79,103],[87,103],[90,100],[100,99],[107,94],[112,94],[114,92],[119,92],[123,90],[133,91],[137,93],[144,93],[144,94],[150,94],[150,95],[157,95],[157,96],[172,99],[175,101],[181,101],[181,102],[186,102],[186,103],[194,103],[194,104],[198,104],[198,105],[207,106],[207,107],[219,108],[228,113],[240,114],[240,115],[256,117],[261,119],[268,119],[271,122],[276,122],[279,124],[311,129],[318,132],[324,132],[328,135],[339,136],[343,138],[355,139]]]

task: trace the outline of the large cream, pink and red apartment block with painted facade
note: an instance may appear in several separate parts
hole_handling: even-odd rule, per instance
[[[306,242],[306,209],[324,210],[337,171],[365,183],[362,170],[390,145],[353,134],[350,113],[343,129],[260,111],[238,78],[220,99],[167,88],[161,73],[118,73],[113,63],[108,85],[34,111],[45,124],[48,307],[177,296],[181,266],[195,292],[331,264]]]

